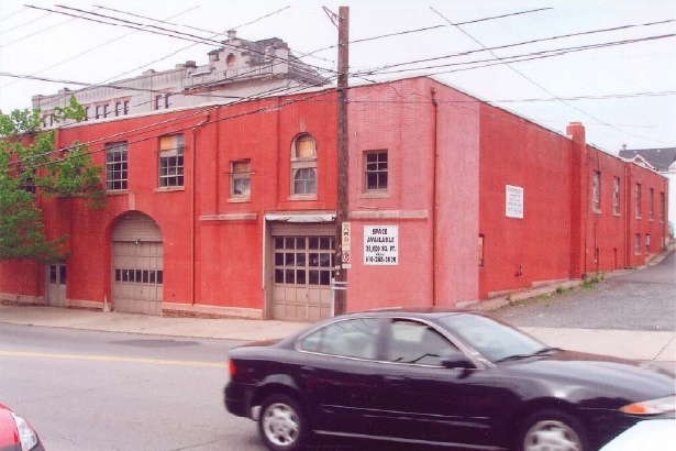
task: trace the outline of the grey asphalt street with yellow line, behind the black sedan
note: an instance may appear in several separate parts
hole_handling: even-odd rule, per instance
[[[32,424],[47,451],[264,451],[257,424],[223,406],[225,352],[241,343],[0,323],[0,403]],[[310,449],[373,450],[413,449]]]

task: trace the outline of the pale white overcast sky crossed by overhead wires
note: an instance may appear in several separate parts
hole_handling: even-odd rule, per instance
[[[350,69],[355,75],[351,85],[433,75],[562,134],[569,122],[581,122],[587,142],[612,154],[623,144],[630,150],[676,145],[673,0],[64,0],[58,4],[70,9],[48,1],[0,1],[4,113],[30,108],[34,95],[80,87],[67,81],[110,82],[186,61],[203,65],[207,53],[218,48],[213,43],[148,32],[158,29],[132,30],[59,11],[74,15],[84,15],[74,9],[96,11],[212,41],[224,40],[217,34],[232,29],[248,41],[279,37],[295,54],[311,54],[303,57],[306,63],[335,70],[337,29],[322,7],[337,13],[343,6],[350,7]],[[620,30],[598,32],[614,28]],[[570,34],[575,35],[564,37]],[[372,37],[378,38],[355,42]],[[472,53],[457,55],[467,52]],[[529,61],[513,61],[524,58]],[[428,61],[410,64],[421,59]]]

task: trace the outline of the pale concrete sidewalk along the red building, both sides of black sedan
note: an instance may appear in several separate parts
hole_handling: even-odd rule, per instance
[[[668,252],[656,256],[646,266],[660,263]],[[606,277],[613,277],[629,272],[631,270],[608,273]],[[511,294],[509,299],[507,296],[497,297],[470,306],[470,308],[489,311],[510,301],[552,294],[559,286],[569,287],[580,285],[581,283],[583,280],[568,280],[552,286],[517,292]],[[304,322],[274,320],[173,318],[48,306],[0,305],[0,323],[2,322],[89,331],[237,341],[280,339],[308,326]],[[676,332],[674,331],[652,332],[565,328],[523,328],[523,330],[550,345],[574,351],[641,361],[669,362],[669,364],[673,364],[676,360]]]

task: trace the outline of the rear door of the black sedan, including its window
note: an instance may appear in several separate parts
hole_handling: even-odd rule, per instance
[[[370,433],[380,396],[379,321],[339,320],[302,338],[298,381],[310,406],[312,429]]]

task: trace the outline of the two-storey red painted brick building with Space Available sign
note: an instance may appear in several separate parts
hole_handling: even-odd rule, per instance
[[[0,298],[120,311],[333,315],[336,94],[69,125],[108,205],[38,200],[60,265],[0,264]],[[456,306],[643,264],[667,180],[432,78],[348,92],[347,310]]]

